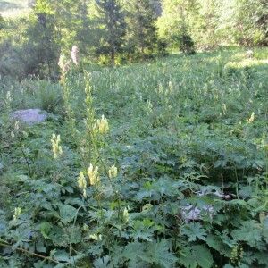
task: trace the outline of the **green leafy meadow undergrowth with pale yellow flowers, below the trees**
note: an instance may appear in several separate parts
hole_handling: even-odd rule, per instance
[[[265,54],[1,80],[1,267],[267,267]]]

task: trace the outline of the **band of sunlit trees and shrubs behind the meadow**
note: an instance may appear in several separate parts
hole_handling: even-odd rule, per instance
[[[29,6],[25,16],[8,11]],[[268,45],[265,0],[0,2],[0,74],[58,79],[59,54],[78,46],[84,63],[122,65],[222,44]]]

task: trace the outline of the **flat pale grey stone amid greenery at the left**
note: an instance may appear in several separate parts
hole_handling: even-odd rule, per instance
[[[40,109],[19,110],[12,113],[13,120],[19,120],[28,125],[38,124],[48,117],[46,111]]]

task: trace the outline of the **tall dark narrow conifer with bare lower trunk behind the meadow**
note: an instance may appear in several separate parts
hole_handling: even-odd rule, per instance
[[[101,31],[96,53],[109,55],[114,67],[115,54],[122,51],[126,34],[124,13],[119,0],[96,0],[96,7]]]

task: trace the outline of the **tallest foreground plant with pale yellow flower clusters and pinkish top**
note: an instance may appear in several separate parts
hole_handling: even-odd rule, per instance
[[[90,192],[91,197],[96,199],[100,214],[103,216],[103,205],[101,200],[104,197],[105,178],[109,181],[111,187],[114,188],[113,179],[118,175],[118,170],[115,165],[111,168],[106,166],[105,156],[103,155],[105,147],[108,147],[105,139],[109,133],[110,126],[104,114],[100,118],[96,118],[94,96],[91,87],[91,74],[85,71],[86,118],[83,121],[84,125],[82,128],[79,130],[77,129],[79,123],[75,121],[73,109],[71,108],[71,87],[68,80],[71,61],[75,65],[80,63],[79,49],[77,46],[72,46],[71,59],[69,61],[65,55],[62,55],[59,60],[59,66],[63,72],[63,99],[67,113],[67,121],[71,123],[72,136],[77,142],[83,163],[82,171],[79,172],[77,179],[77,185],[78,188],[82,190],[83,197],[88,198],[88,192]],[[88,172],[86,172],[87,170]],[[86,174],[88,176],[85,176]],[[118,203],[116,206],[118,209],[118,216],[124,221],[124,211],[121,209],[118,191],[114,191],[114,198]],[[101,218],[103,219],[103,217]],[[105,224],[105,220],[103,223]]]

